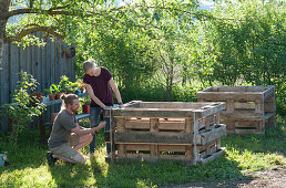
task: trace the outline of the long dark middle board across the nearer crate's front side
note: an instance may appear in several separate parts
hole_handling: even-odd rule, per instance
[[[130,143],[150,143],[150,144],[192,144],[193,136],[187,133],[170,132],[115,132],[114,142],[116,144]]]

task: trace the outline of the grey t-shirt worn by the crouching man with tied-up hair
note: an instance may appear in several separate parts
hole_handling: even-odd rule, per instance
[[[74,114],[62,109],[54,119],[52,132],[48,140],[50,148],[58,147],[70,140],[71,129],[75,128],[78,122]]]

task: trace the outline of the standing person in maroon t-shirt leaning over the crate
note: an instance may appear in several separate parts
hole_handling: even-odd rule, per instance
[[[119,88],[108,69],[98,66],[96,62],[91,60],[83,62],[82,67],[85,73],[83,76],[83,82],[86,84],[86,91],[91,97],[90,123],[91,127],[95,127],[99,125],[99,116],[101,111],[106,108],[106,106],[113,106],[112,91],[118,98],[120,107],[123,107],[123,103]],[[110,119],[105,117],[104,121],[106,122],[105,130],[109,130]],[[93,140],[90,144],[89,157],[92,157],[95,150],[95,139],[96,134],[93,134]],[[110,144],[106,144],[106,152],[108,154],[111,152]]]

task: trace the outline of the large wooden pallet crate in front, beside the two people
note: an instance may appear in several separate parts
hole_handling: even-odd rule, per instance
[[[219,124],[225,103],[130,102],[125,108],[105,111],[111,119],[111,160],[171,159],[205,164],[221,156]]]

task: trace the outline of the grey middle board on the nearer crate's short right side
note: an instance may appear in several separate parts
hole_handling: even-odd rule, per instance
[[[210,130],[200,132],[196,135],[197,145],[206,145],[226,135],[226,125],[221,124],[217,127],[212,127]]]

